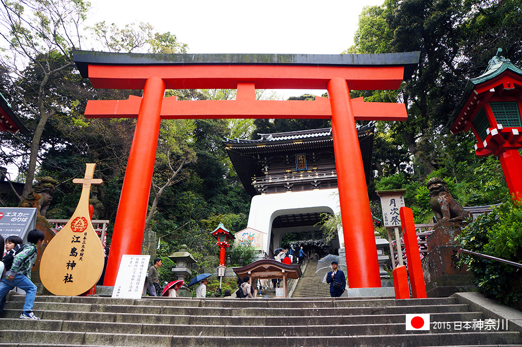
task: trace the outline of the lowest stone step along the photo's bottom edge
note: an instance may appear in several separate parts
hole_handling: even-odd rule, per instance
[[[118,334],[96,332],[61,332],[44,330],[0,330],[0,341],[17,341],[18,345],[41,345],[41,342],[58,345],[117,345],[117,346],[448,346],[456,342],[467,345],[503,345],[520,344],[518,332],[462,332],[462,333],[422,333],[374,336],[251,336],[216,337],[216,336],[166,336],[156,334]]]

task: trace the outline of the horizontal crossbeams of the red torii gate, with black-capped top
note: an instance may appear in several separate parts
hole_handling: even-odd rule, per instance
[[[236,100],[177,101],[164,98],[161,119],[176,118],[316,118],[330,119],[328,99],[255,100],[255,89],[326,89],[333,77],[351,89],[397,89],[417,66],[419,52],[390,54],[126,54],[75,51],[83,77],[95,88],[143,89],[159,77],[167,89],[238,89]],[[401,103],[355,99],[357,120],[404,120]],[[354,101],[355,101],[354,100]],[[89,100],[87,118],[136,118],[141,98]]]

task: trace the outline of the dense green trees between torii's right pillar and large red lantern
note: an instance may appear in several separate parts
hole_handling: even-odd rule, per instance
[[[367,101],[404,102],[408,109],[405,122],[376,124],[371,196],[373,189],[406,189],[406,204],[422,223],[432,217],[425,187],[432,177],[443,178],[464,205],[499,203],[508,194],[499,160],[477,157],[471,132],[449,135],[442,128],[467,79],[484,72],[498,47],[520,65],[521,5],[386,0],[362,11],[355,44],[345,53],[420,51],[418,71],[398,91],[352,91]]]

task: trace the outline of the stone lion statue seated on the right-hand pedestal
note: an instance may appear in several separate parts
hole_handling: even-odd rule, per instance
[[[446,182],[440,178],[432,178],[426,183],[430,190],[430,206],[437,222],[462,222],[471,219],[472,215],[449,192]]]

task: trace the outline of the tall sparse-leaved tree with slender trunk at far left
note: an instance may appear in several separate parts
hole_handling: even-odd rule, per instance
[[[18,149],[23,150],[27,162],[22,196],[32,188],[46,123],[67,108],[50,84],[74,65],[70,52],[81,48],[78,32],[88,8],[81,0],[2,1],[1,47],[7,54],[0,61],[13,79],[11,99],[32,123],[32,136],[11,135],[21,143]]]

